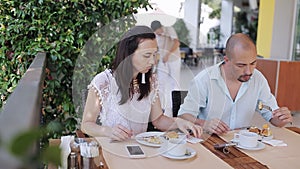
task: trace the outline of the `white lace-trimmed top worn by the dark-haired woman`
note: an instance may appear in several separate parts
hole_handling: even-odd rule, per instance
[[[100,121],[104,126],[113,127],[121,124],[128,129],[133,130],[134,134],[147,131],[151,105],[158,97],[157,78],[152,76],[151,92],[148,97],[138,101],[138,91],[134,93],[133,98],[120,105],[121,94],[118,92],[118,86],[110,70],[97,74],[88,88],[93,87],[97,91],[102,109],[100,112]]]

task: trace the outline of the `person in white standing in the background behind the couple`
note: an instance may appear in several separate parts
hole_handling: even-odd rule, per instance
[[[151,28],[156,34],[158,42],[159,61],[157,64],[157,76],[160,89],[160,97],[164,114],[172,116],[172,90],[178,90],[180,81],[180,42],[175,29],[171,26],[163,26],[155,20]]]

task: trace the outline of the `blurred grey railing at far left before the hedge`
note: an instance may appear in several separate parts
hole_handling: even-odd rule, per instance
[[[39,126],[46,54],[38,53],[0,113],[0,138],[9,142],[22,131]],[[37,151],[38,147],[32,147]],[[20,161],[0,146],[0,169],[21,168]]]

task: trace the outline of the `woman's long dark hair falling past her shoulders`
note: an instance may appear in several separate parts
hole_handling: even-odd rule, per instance
[[[133,86],[133,64],[132,56],[133,53],[138,48],[139,43],[144,39],[155,39],[155,34],[152,29],[147,26],[135,26],[131,28],[117,46],[116,57],[111,65],[111,70],[113,71],[116,79],[116,83],[119,87],[119,92],[121,92],[121,100],[119,104],[124,104],[134,94]],[[148,71],[145,74],[146,83],[142,84],[142,74],[137,75],[137,81],[140,91],[140,96],[138,100],[147,97],[151,90],[150,77],[152,76],[152,71]]]

